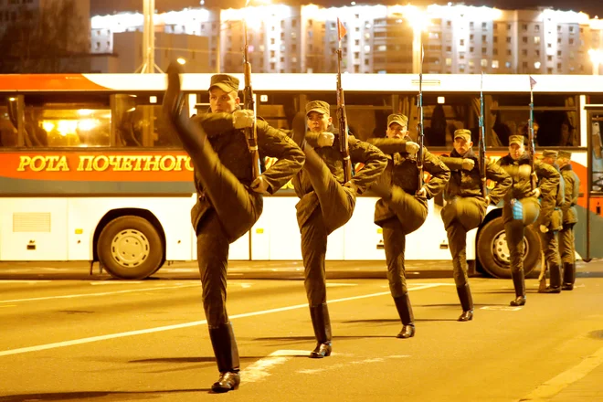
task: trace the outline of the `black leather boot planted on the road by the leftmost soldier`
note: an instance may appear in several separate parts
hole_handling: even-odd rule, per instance
[[[240,384],[238,347],[232,325],[223,323],[217,328],[209,328],[209,339],[214,347],[217,369],[220,372],[220,377],[211,386],[211,390],[222,393],[237,389]]]

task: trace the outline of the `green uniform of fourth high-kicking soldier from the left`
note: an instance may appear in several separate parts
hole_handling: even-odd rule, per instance
[[[469,158],[475,162],[471,171],[462,169],[462,158]],[[472,150],[462,157],[456,151],[452,151],[450,157],[442,156],[440,159],[451,171],[450,181],[444,193],[446,206],[442,209],[441,215],[448,234],[454,281],[457,288],[461,288],[468,280],[467,232],[480,226],[488,205],[481,194],[479,161]],[[496,205],[513,181],[502,167],[493,162],[486,163],[486,178],[495,183],[488,196],[491,204]]]

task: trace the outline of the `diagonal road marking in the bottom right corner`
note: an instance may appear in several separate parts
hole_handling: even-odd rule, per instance
[[[538,386],[519,401],[545,401],[555,397],[564,388],[570,386],[588,375],[591,371],[603,364],[603,347],[594,354],[587,356],[582,362],[564,371],[558,376],[554,376],[543,385]]]

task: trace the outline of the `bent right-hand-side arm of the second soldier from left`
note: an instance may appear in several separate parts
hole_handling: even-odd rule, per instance
[[[361,162],[365,164],[350,180],[358,188],[358,194],[363,194],[366,187],[373,183],[386,169],[387,157],[375,146],[359,141],[353,135],[348,136],[348,145],[352,163]]]

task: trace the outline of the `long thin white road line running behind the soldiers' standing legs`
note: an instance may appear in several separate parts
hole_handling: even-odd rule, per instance
[[[428,283],[428,284],[425,284],[422,286],[409,288],[408,291],[422,291],[424,289],[435,288],[438,286],[439,286],[439,283]],[[153,290],[154,290],[154,288],[153,288]],[[332,301],[328,301],[328,303],[332,304],[332,303],[337,303],[337,302],[349,302],[349,301],[353,301],[353,300],[367,299],[370,297],[384,296],[386,294],[390,294],[390,292],[389,291],[381,291],[379,293],[364,294],[362,296],[345,297],[343,299],[335,299]],[[237,318],[253,317],[256,315],[270,314],[272,312],[288,312],[290,310],[302,309],[302,308],[307,309],[308,303],[295,304],[292,306],[280,307],[278,309],[263,310],[260,312],[245,312],[243,314],[231,315],[230,320],[234,320]],[[57,342],[54,344],[38,344],[37,346],[28,346],[28,347],[21,347],[18,349],[0,351],[0,357],[8,356],[11,354],[26,354],[29,352],[38,352],[38,351],[42,351],[42,350],[56,349],[58,347],[73,346],[76,344],[90,344],[92,342],[106,341],[109,339],[116,339],[116,338],[124,338],[126,336],[143,335],[146,333],[160,333],[163,331],[171,331],[171,330],[176,330],[176,329],[180,329],[180,328],[188,328],[188,327],[192,327],[192,326],[196,326],[196,325],[204,325],[206,323],[207,323],[206,320],[193,321],[191,323],[179,323],[179,324],[175,324],[175,325],[165,325],[165,326],[161,326],[161,327],[147,328],[144,330],[129,331],[127,333],[110,333],[108,335],[91,336],[90,338],[74,339],[72,341]]]

